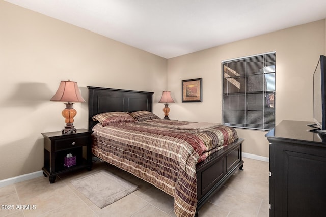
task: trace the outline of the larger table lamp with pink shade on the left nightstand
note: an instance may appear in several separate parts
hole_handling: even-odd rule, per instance
[[[79,92],[77,82],[61,81],[56,94],[51,98],[51,101],[67,102],[66,108],[62,111],[62,116],[65,118],[66,126],[62,129],[62,133],[74,133],[76,128],[73,126],[73,118],[77,111],[72,107],[72,102],[85,102]]]

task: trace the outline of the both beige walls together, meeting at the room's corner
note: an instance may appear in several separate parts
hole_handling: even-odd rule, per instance
[[[312,73],[326,51],[325,20],[166,60],[85,29],[0,0],[0,180],[41,170],[41,133],[64,126],[62,103],[50,102],[61,80],[86,86],[171,90],[170,118],[221,122],[221,61],[276,51],[276,122],[312,120]],[[181,80],[203,78],[203,102],[181,103]],[[87,102],[74,125],[87,128]],[[163,117],[162,104],[153,111]],[[264,131],[237,129],[243,151],[268,157]]]

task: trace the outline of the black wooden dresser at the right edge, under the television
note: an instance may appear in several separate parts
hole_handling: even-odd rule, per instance
[[[269,141],[269,216],[326,216],[326,134],[283,120]]]

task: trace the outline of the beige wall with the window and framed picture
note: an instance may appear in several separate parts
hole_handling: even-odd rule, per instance
[[[325,53],[325,20],[168,59],[168,89],[176,101],[170,118],[222,121],[221,61],[276,51],[276,124],[313,121],[312,74]],[[181,103],[181,80],[203,78],[203,102]],[[268,157],[266,131],[237,129],[243,151]]]

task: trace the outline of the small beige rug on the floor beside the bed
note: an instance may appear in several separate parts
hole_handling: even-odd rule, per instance
[[[71,184],[99,208],[104,208],[139,189],[137,185],[105,170],[73,179]]]

